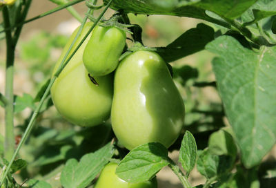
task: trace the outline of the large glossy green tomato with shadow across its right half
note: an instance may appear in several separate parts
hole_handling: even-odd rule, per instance
[[[116,70],[114,87],[112,129],[124,147],[175,142],[184,124],[184,102],[157,53],[128,55]]]

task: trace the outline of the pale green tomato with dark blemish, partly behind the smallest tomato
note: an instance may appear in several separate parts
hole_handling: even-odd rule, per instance
[[[92,23],[86,23],[80,37],[70,51],[70,55],[91,26]],[[66,44],[53,73],[57,71],[59,64],[61,64],[70,44],[77,35],[77,30],[70,37],[68,44]],[[88,72],[83,66],[82,55],[88,39],[83,42],[77,53],[70,59],[67,66],[63,68],[51,88],[52,101],[57,111],[63,118],[79,126],[101,124],[110,117],[112,104],[112,75],[95,77],[99,84],[99,86],[96,86],[90,81]]]

